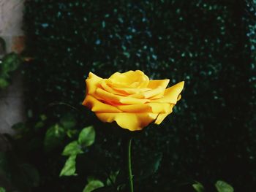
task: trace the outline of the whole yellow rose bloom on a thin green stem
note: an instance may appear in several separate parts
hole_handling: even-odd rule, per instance
[[[116,121],[129,131],[141,130],[149,123],[162,123],[181,99],[184,81],[166,88],[170,80],[149,80],[137,70],[116,72],[108,79],[89,73],[83,105],[99,120]]]

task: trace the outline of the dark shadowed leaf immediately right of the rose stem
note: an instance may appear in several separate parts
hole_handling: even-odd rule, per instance
[[[143,180],[151,176],[159,169],[162,160],[162,153],[152,155],[148,159],[137,164],[135,169],[135,180]]]

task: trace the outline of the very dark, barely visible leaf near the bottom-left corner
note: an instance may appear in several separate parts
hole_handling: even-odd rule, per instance
[[[29,186],[37,187],[39,185],[39,172],[34,166],[31,164],[22,164],[20,165],[20,169],[26,177]]]

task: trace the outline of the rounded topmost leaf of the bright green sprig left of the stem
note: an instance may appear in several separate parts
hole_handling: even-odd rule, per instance
[[[95,140],[95,131],[93,126],[83,128],[83,130],[80,131],[80,134],[78,137],[78,142],[80,143],[80,145],[89,147],[94,143],[94,140]]]

